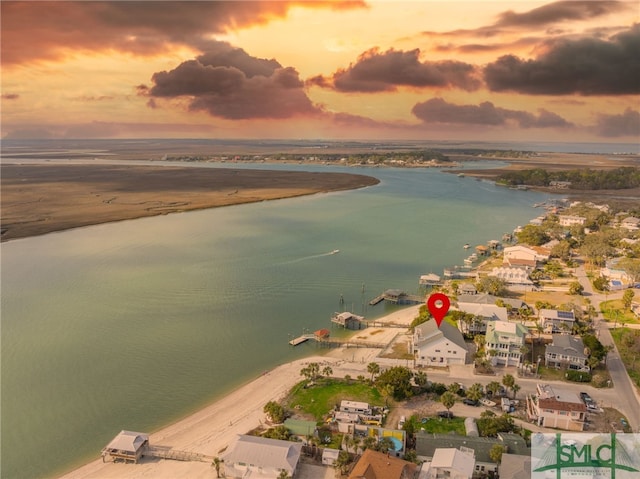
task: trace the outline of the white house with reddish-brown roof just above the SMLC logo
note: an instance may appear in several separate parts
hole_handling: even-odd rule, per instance
[[[549,384],[538,384],[537,393],[527,396],[527,416],[541,427],[583,431],[587,406],[578,393]]]

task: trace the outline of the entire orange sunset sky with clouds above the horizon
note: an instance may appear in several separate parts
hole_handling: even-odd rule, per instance
[[[640,0],[0,9],[3,139],[640,141]]]

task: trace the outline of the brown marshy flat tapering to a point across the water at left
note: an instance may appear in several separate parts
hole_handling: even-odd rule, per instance
[[[350,190],[350,173],[139,166],[3,164],[2,241],[112,221]]]

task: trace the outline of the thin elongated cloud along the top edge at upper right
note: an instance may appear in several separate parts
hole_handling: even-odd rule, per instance
[[[524,13],[512,10],[499,15],[498,27],[542,27],[557,22],[589,20],[629,8],[624,2],[614,1],[562,1],[549,3]]]

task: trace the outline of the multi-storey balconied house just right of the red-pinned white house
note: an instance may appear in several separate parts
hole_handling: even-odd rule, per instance
[[[494,366],[519,366],[522,362],[522,346],[528,332],[520,323],[489,322],[485,336],[487,359]]]

